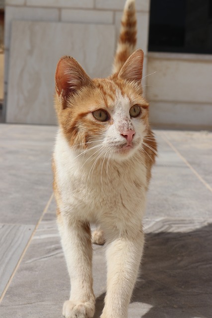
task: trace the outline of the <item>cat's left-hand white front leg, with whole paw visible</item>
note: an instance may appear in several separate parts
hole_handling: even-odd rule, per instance
[[[95,297],[92,288],[92,246],[90,226],[59,217],[59,230],[71,279],[70,299],[64,303],[66,318],[92,318]]]

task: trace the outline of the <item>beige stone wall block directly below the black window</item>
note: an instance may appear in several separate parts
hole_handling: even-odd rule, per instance
[[[211,61],[148,58],[148,93],[153,101],[212,102]],[[197,76],[198,74],[198,76]],[[174,76],[173,76],[174,75]],[[204,80],[200,80],[204,79]],[[193,116],[193,115],[192,115]],[[192,117],[191,116],[191,117]]]

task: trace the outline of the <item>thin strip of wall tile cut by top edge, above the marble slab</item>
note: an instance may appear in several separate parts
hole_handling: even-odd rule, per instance
[[[26,5],[92,8],[94,0],[26,0]]]

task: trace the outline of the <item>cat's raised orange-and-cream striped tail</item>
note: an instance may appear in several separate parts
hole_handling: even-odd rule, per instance
[[[126,0],[121,24],[119,42],[113,62],[113,74],[121,70],[136,47],[137,19],[135,0]]]

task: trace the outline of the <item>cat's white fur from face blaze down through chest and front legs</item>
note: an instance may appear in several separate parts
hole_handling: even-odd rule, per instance
[[[96,138],[86,151],[71,148],[61,129],[57,135],[54,161],[60,193],[59,230],[71,277],[70,300],[63,310],[66,318],[94,314],[91,236],[85,224],[99,225],[107,242],[107,295],[102,318],[127,317],[141,261],[147,180],[138,149],[144,127],[139,119],[130,118],[128,98],[117,96],[115,109],[114,124],[99,137],[101,142]],[[125,128],[136,131],[135,147],[126,155],[117,152],[126,142],[120,134]]]

